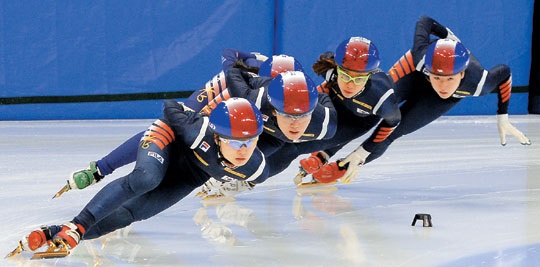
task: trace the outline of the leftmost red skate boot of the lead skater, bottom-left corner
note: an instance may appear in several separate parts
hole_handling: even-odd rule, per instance
[[[6,258],[15,256],[23,251],[34,252],[46,244],[50,244],[52,237],[60,232],[61,226],[51,225],[42,226],[40,229],[32,231],[19,240],[17,248],[9,253]]]

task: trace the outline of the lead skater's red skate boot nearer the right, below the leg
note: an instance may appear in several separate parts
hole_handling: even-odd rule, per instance
[[[35,253],[32,259],[62,258],[69,255],[81,241],[85,229],[80,224],[68,222],[53,236],[49,248],[45,252]]]

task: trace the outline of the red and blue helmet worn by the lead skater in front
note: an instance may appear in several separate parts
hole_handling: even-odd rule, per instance
[[[244,98],[233,97],[219,103],[210,113],[210,129],[230,139],[248,139],[263,131],[259,109]]]

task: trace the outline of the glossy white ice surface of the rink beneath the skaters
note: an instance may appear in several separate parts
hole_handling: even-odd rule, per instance
[[[298,163],[235,202],[190,196],[147,221],[83,241],[63,259],[0,266],[539,266],[540,116],[510,116],[532,140],[499,142],[495,116],[442,117],[396,141],[349,185],[298,192]],[[0,252],[73,218],[108,181],[51,197],[151,120],[0,122]],[[337,156],[356,147],[350,144]],[[433,227],[411,226],[429,213]]]

